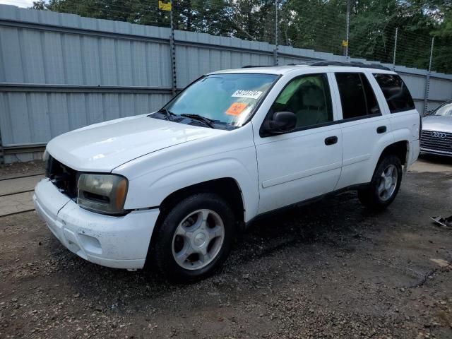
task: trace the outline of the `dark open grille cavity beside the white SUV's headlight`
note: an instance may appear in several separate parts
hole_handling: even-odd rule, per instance
[[[45,176],[69,198],[77,196],[78,175],[75,169],[71,169],[49,155],[45,164]]]

